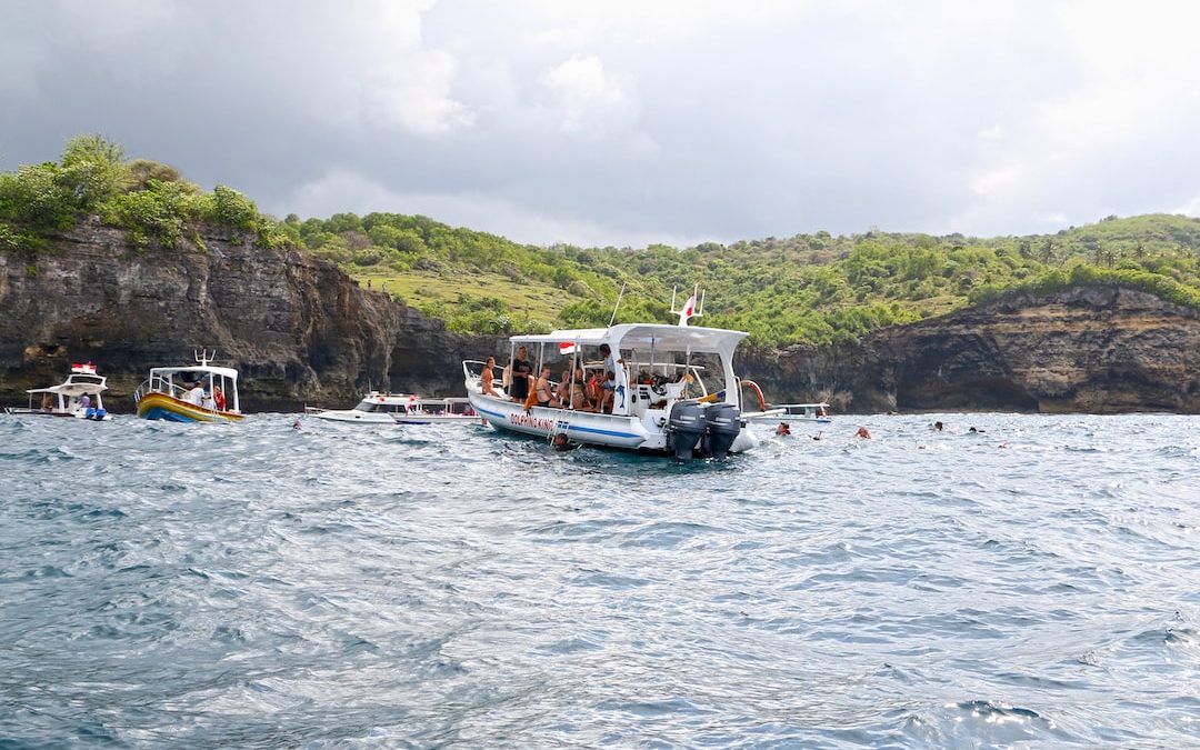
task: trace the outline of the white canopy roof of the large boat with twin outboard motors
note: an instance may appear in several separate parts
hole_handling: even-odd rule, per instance
[[[550,334],[514,336],[512,343],[575,343],[584,347],[599,347],[606,343],[614,352],[654,348],[667,352],[712,352],[732,356],[738,342],[749,335],[720,328],[628,323],[610,328],[568,329]]]

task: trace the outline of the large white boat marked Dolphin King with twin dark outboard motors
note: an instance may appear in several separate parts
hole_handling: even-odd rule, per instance
[[[496,428],[556,442],[679,458],[724,458],[754,448],[758,440],[742,419],[733,372],[733,352],[748,334],[689,326],[689,318],[703,314],[695,294],[672,312],[679,313],[677,325],[632,323],[514,336],[510,367],[494,378],[493,392],[484,389],[484,362],[463,362],[470,404]],[[512,395],[520,397],[524,389],[514,388],[520,383],[511,383],[511,362],[522,348],[535,376],[544,366],[562,374],[530,378],[534,396],[518,402]]]

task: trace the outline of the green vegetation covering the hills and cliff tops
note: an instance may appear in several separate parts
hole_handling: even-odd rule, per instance
[[[228,187],[204,193],[166,164],[125,161],[95,136],[73,139],[56,163],[0,174],[2,251],[46,248],[88,214],[148,248],[198,240],[205,223],[265,246],[295,244],[463,331],[602,325],[622,286],[618,320],[667,322],[671,289],[694,283],[708,290],[702,324],[750,331],[762,346],[857,338],[1004,292],[1081,283],[1122,283],[1200,310],[1200,220],[1184,216],[1110,216],[991,239],[871,230],[688,248],[538,247],[425,216],[280,222]]]

